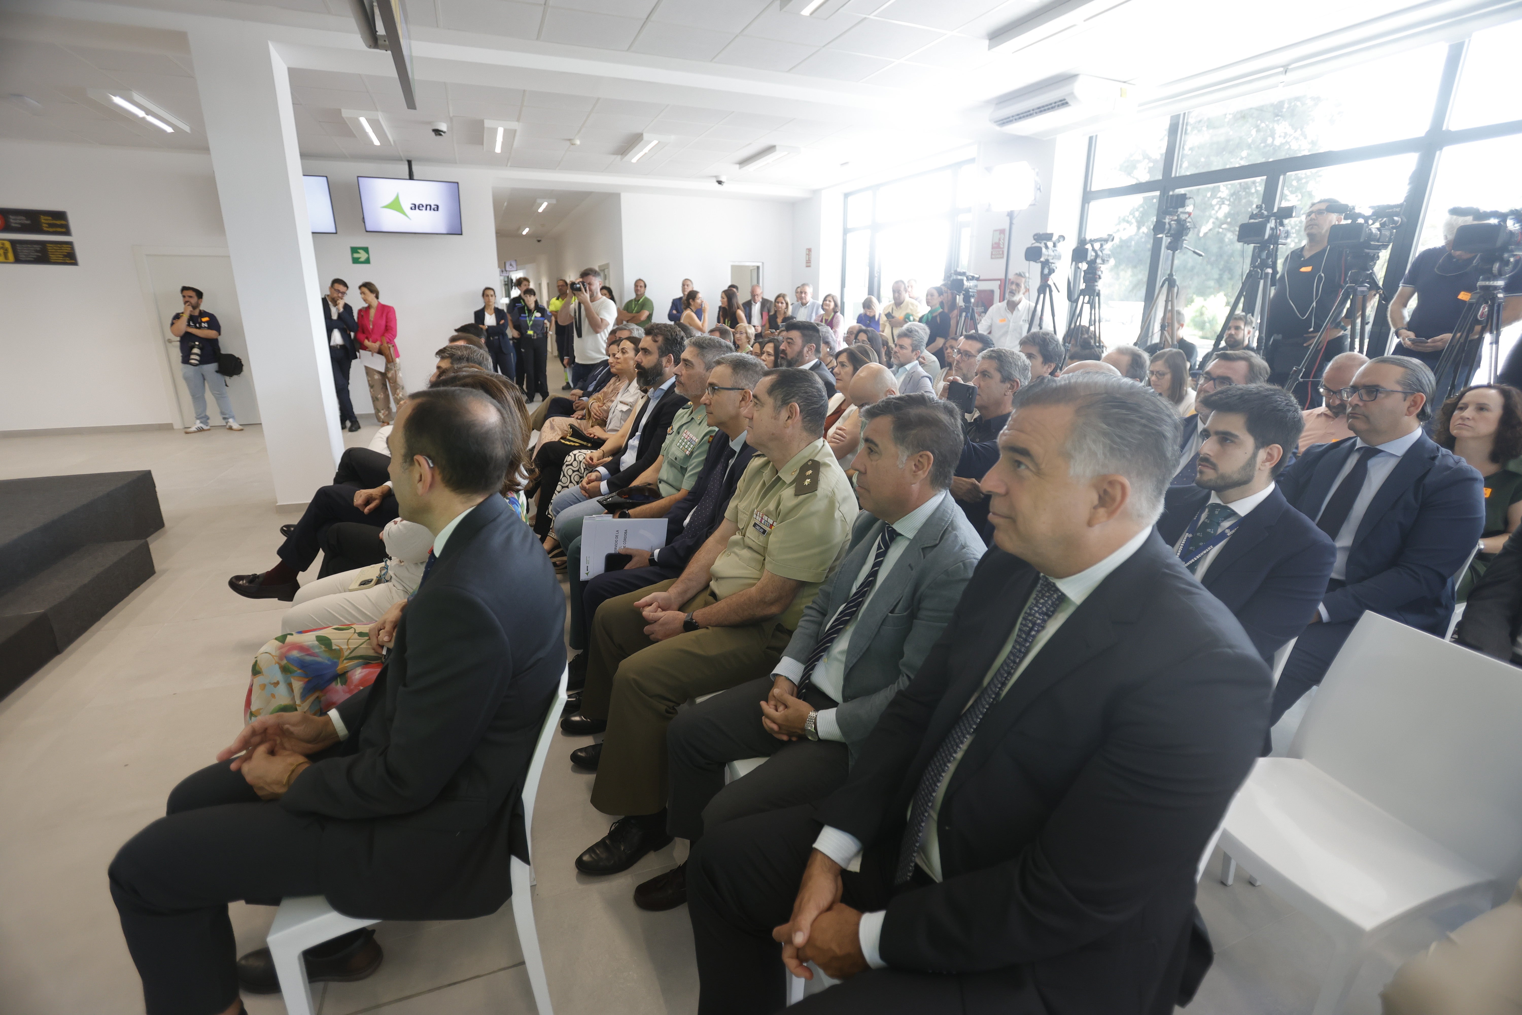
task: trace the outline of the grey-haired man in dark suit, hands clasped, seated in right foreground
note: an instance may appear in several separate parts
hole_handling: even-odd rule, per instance
[[[1152,533],[1177,441],[1128,380],[1021,396],[983,479],[997,549],[845,785],[694,849],[699,1012],[775,1012],[779,965],[805,960],[845,983],[799,1012],[1163,1015],[1192,995],[1195,870],[1269,674]]]

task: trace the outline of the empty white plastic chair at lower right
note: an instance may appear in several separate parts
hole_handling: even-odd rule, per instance
[[[1397,927],[1490,908],[1522,877],[1519,714],[1507,663],[1365,613],[1289,756],[1259,759],[1221,848],[1333,936],[1315,1015]]]

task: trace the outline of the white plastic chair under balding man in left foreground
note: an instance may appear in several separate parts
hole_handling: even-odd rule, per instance
[[[539,793],[539,778],[545,772],[545,758],[549,755],[549,744],[554,740],[556,723],[560,709],[566,703],[566,673],[560,673],[560,688],[556,691],[545,721],[539,729],[539,740],[534,743],[534,753],[528,762],[528,775],[524,779],[524,834],[533,849],[534,828],[534,796]],[[530,852],[533,860],[533,852]],[[549,1007],[549,983],[545,978],[545,959],[539,951],[539,931],[534,928],[534,902],[530,892],[534,884],[534,872],[517,857],[510,860],[510,877],[513,881],[513,922],[517,927],[517,940],[524,950],[524,965],[528,968],[528,983],[534,991],[534,1004],[539,1015],[554,1015]],[[306,962],[301,953],[324,940],[332,940],[339,934],[373,927],[377,919],[359,916],[344,916],[327,904],[321,895],[303,895],[280,902],[275,921],[269,927],[269,956],[275,963],[275,974],[280,977],[280,995],[285,1000],[289,1015],[314,1015],[312,985],[306,978]]]

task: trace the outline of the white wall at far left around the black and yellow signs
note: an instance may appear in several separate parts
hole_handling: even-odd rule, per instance
[[[9,207],[68,212],[79,266],[0,265],[0,431],[169,425],[132,247],[225,248],[209,155],[0,142]]]

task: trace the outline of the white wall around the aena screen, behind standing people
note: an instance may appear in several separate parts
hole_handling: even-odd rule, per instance
[[[317,233],[317,271],[321,286],[330,278],[349,283],[349,303],[356,310],[359,283],[373,282],[380,301],[396,307],[397,347],[402,352],[402,380],[408,391],[422,388],[437,361],[432,353],[444,344],[455,326],[466,324],[481,306],[481,289],[501,289],[502,263],[496,253],[496,224],[492,216],[492,173],[470,166],[417,166],[419,180],[460,183],[460,236],[419,236],[414,233],[365,233],[359,213],[356,177],[406,178],[406,164],[301,160],[306,173],[327,177],[333,195],[338,233]],[[350,247],[368,247],[370,263],[356,265]],[[312,294],[317,300],[318,294]],[[371,411],[364,367],[355,364],[349,376],[355,412]]]

